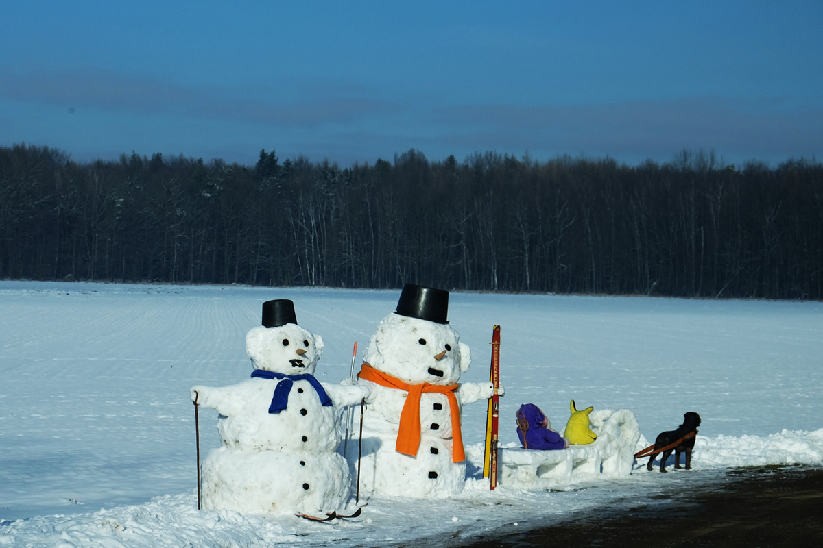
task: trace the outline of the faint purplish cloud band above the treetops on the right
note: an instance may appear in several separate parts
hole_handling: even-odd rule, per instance
[[[486,143],[498,150],[658,158],[685,147],[771,158],[813,154],[823,145],[823,109],[778,99],[770,108],[765,102],[712,97],[574,106],[495,104],[439,108],[433,120],[453,145]]]

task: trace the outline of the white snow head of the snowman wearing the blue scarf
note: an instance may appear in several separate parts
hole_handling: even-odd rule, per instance
[[[246,334],[246,353],[256,369],[284,375],[314,375],[323,353],[323,338],[300,325],[255,327]]]

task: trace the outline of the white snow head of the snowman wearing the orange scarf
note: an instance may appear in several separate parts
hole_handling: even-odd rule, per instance
[[[365,361],[412,385],[454,385],[472,354],[449,325],[389,314],[372,335]]]

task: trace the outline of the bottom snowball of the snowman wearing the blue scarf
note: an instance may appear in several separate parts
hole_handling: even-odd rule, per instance
[[[351,491],[346,460],[331,454],[248,453],[213,449],[201,467],[203,509],[322,515],[345,507]]]

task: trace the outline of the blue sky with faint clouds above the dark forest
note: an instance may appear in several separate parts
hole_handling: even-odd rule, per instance
[[[4,2],[0,145],[823,156],[823,2]]]

